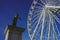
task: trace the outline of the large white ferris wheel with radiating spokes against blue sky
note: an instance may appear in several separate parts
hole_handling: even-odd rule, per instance
[[[28,14],[30,40],[60,39],[60,0],[33,0]]]

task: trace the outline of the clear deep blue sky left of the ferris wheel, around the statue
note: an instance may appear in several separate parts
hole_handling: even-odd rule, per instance
[[[25,28],[23,40],[28,40],[27,15],[32,0],[0,0],[0,40],[4,40],[4,30],[7,24],[11,24],[16,13],[22,20],[18,20],[17,26]]]

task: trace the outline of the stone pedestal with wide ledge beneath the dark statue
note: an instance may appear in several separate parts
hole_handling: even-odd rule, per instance
[[[5,40],[22,40],[23,28],[8,25],[5,29]]]

